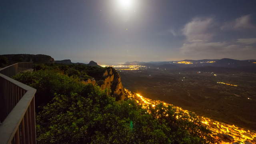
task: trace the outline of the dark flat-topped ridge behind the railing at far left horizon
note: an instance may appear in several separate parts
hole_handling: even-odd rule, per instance
[[[44,54],[4,54],[0,56],[6,57],[9,64],[16,62],[54,63],[54,58]]]

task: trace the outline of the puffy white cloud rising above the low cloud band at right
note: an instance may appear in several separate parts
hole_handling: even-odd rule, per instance
[[[194,18],[182,29],[182,33],[189,42],[212,40],[216,24],[213,18]]]

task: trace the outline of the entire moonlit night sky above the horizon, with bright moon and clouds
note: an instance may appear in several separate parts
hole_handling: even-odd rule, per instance
[[[1,0],[0,54],[256,59],[255,0]]]

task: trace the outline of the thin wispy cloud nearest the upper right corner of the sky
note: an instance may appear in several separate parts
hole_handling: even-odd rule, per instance
[[[251,15],[241,16],[231,22],[224,23],[221,30],[243,30],[243,29],[256,29],[256,26],[251,22]]]

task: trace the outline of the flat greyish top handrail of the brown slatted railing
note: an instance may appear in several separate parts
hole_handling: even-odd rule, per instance
[[[21,63],[30,63],[30,62],[21,62]],[[19,64],[19,63],[16,63]],[[10,66],[14,66],[12,64]],[[4,68],[0,68],[0,71],[9,68],[10,66],[6,66]],[[0,143],[1,144],[10,144],[16,134],[22,119],[24,118],[30,103],[32,102],[34,95],[36,93],[36,89],[18,82],[4,74],[0,73],[0,77],[5,80],[15,84],[16,86],[26,90],[26,93],[22,96],[22,98],[18,101],[18,103],[14,106],[12,111],[8,114],[8,116],[4,119],[2,124],[0,125]],[[32,102],[32,106],[34,106],[34,102]],[[35,120],[35,118],[34,118]],[[34,131],[34,137],[36,138],[36,132]]]

